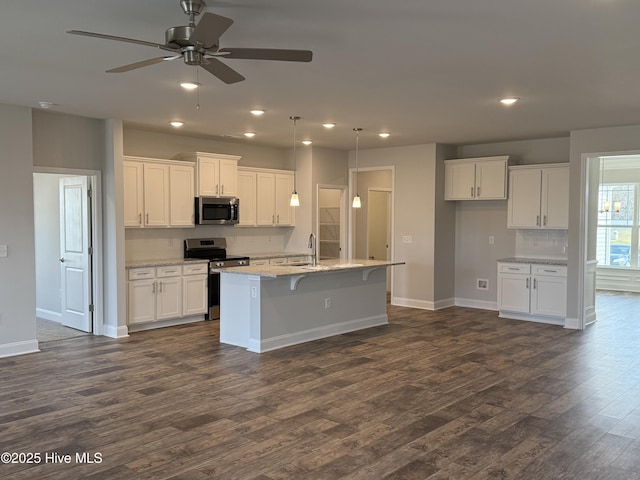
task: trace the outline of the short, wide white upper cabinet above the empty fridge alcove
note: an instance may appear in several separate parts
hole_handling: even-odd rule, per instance
[[[507,198],[508,156],[445,160],[445,200]]]

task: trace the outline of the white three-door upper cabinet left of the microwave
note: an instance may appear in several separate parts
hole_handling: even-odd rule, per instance
[[[137,228],[194,225],[194,165],[125,157],[124,225]]]

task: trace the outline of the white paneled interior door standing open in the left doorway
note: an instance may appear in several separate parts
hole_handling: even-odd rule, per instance
[[[91,332],[91,230],[87,177],[60,179],[61,323]]]

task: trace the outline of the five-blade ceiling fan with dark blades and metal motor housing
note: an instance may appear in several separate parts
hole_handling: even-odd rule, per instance
[[[187,65],[197,65],[215,75],[224,83],[241,82],[245,78],[216,57],[247,60],[280,60],[286,62],[310,62],[313,53],[309,50],[285,50],[275,48],[220,48],[220,36],[227,31],[233,20],[214,13],[204,13],[196,25],[195,17],[205,6],[203,0],[180,0],[180,6],[189,16],[189,25],[171,27],[165,31],[165,43],[147,42],[134,38],[117,37],[102,33],[69,30],[73,35],[104,38],[118,42],[136,43],[159,48],[173,55],[150,58],[107,70],[107,73],[122,73],[165,61],[182,58]]]

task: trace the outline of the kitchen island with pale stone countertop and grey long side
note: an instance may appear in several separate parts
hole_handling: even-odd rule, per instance
[[[385,325],[387,268],[404,262],[220,269],[220,342],[266,352]]]

